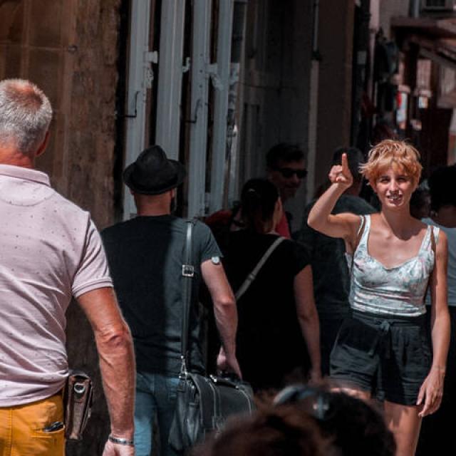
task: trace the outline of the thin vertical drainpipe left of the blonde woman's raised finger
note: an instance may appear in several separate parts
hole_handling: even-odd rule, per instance
[[[314,1],[314,27],[312,31],[312,57],[311,57],[311,77],[309,87],[309,139],[307,154],[307,169],[309,175],[306,180],[306,199],[309,202],[314,197],[315,190],[315,167],[316,167],[316,132],[318,123],[318,76],[319,61],[321,60],[318,51],[318,16],[320,2]]]

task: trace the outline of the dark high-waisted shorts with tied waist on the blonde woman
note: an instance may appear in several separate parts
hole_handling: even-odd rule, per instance
[[[331,351],[331,378],[379,398],[415,405],[431,366],[425,316],[352,311]]]

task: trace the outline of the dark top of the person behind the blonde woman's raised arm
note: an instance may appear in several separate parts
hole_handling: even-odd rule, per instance
[[[343,239],[329,237],[309,227],[307,218],[315,201],[304,209],[304,224],[298,241],[309,254],[314,274],[315,304],[320,316],[342,318],[348,314],[350,304],[350,273],[345,257]],[[373,214],[377,212],[364,199],[352,195],[341,195],[332,214],[351,212],[352,214]]]

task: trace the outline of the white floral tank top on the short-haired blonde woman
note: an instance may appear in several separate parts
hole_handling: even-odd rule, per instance
[[[437,244],[439,228],[427,227],[416,257],[387,268],[368,253],[371,216],[366,223],[354,258],[346,254],[351,270],[350,305],[356,311],[397,316],[420,316],[426,313],[424,296],[434,268],[431,229]]]

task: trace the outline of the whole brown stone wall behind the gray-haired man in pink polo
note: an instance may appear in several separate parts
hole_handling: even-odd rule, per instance
[[[37,167],[59,192],[90,210],[99,228],[114,219],[121,1],[0,0],[0,79],[30,79],[53,104],[51,142]],[[76,304],[67,318],[70,366],[90,372],[96,390],[85,439],[68,443],[66,454],[100,455],[109,423],[93,335]]]

